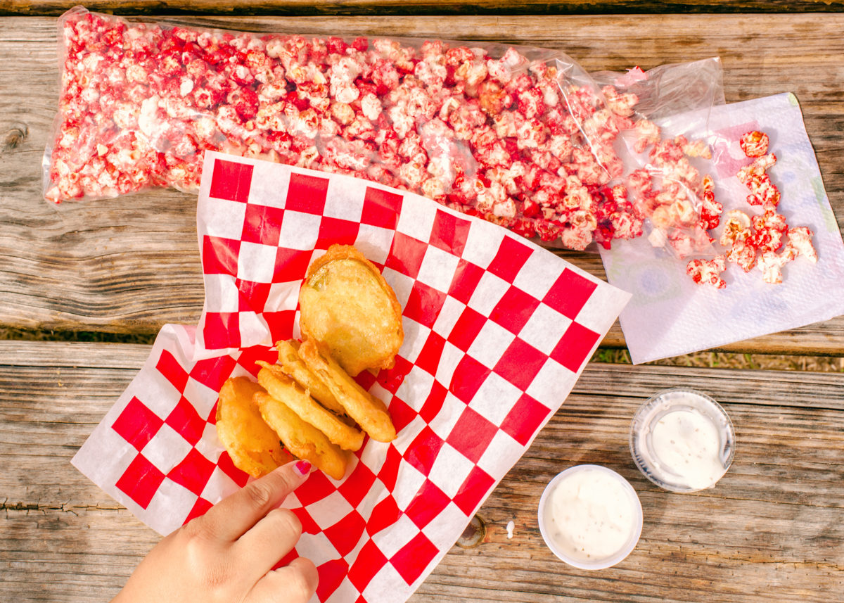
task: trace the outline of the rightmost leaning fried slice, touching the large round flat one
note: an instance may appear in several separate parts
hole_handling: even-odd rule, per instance
[[[396,427],[392,425],[387,406],[349,377],[327,349],[321,349],[313,340],[305,340],[299,347],[299,356],[372,439],[392,442],[396,438]]]

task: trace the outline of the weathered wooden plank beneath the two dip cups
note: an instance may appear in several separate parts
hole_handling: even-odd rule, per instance
[[[108,600],[158,540],[68,462],[148,353],[0,342],[0,600]],[[663,492],[631,462],[633,413],[674,385],[711,393],[733,419],[735,460],[714,490]],[[484,541],[452,549],[410,602],[841,600],[842,448],[841,374],[590,365],[484,503]],[[641,498],[641,541],[615,568],[569,568],[538,533],[544,485],[580,463],[618,470]]]

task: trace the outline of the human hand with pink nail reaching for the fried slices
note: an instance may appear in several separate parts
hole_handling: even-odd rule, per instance
[[[299,557],[273,567],[302,533],[279,504],[310,470],[303,460],[285,464],[166,536],[112,603],[306,603],[317,589],[314,564]]]

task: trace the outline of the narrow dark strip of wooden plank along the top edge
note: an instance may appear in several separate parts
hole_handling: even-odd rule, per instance
[[[57,15],[78,4],[74,0],[6,0],[0,14]],[[841,12],[840,0],[93,0],[89,10],[115,14],[666,14]]]

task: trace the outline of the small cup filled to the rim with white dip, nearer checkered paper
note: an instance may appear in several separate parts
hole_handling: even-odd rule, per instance
[[[539,532],[549,549],[580,569],[609,568],[641,535],[641,502],[614,470],[578,464],[551,480],[539,499]]]

